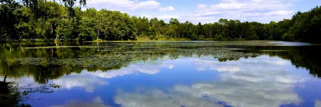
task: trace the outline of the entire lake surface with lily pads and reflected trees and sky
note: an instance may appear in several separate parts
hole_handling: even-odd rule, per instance
[[[32,106],[321,106],[321,46],[281,43],[4,43],[0,78],[62,86]]]

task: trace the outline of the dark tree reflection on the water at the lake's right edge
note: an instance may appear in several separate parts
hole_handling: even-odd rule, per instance
[[[321,51],[315,51],[320,45],[314,46],[249,46],[242,52],[260,53],[272,57],[280,57],[290,61],[296,67],[304,67],[311,74],[321,77]],[[267,51],[268,50],[268,51]]]

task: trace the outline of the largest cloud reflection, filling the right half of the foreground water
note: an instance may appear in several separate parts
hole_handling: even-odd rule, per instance
[[[249,107],[298,104],[302,99],[293,88],[296,83],[309,78],[308,75],[293,74],[298,69],[277,57],[261,56],[226,62],[212,58],[189,59],[200,71],[219,71],[220,79],[192,85],[178,84],[166,90],[140,87],[136,92],[120,91],[115,102],[124,106],[221,106],[217,102]],[[319,100],[315,104],[318,105]]]

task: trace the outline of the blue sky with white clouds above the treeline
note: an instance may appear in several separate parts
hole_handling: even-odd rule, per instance
[[[87,8],[126,12],[129,15],[157,17],[166,22],[173,17],[193,23],[217,22],[220,18],[269,23],[298,11],[320,6],[319,0],[89,0]],[[85,8],[86,9],[86,8]]]

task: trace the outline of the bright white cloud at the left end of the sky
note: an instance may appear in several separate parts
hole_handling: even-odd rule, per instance
[[[130,15],[153,18],[157,17],[154,12],[171,12],[173,6],[162,7],[157,1],[138,1],[138,0],[92,0],[87,1],[87,8],[108,9],[125,12]],[[84,9],[84,8],[83,8]],[[150,13],[153,12],[153,13]],[[179,18],[179,15],[162,15],[159,19]]]

